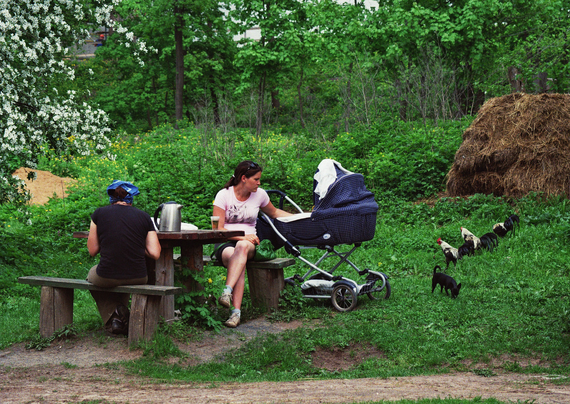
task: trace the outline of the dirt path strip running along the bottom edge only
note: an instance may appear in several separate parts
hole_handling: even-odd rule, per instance
[[[72,370],[72,372],[71,372]],[[543,377],[473,373],[389,379],[305,380],[241,384],[154,384],[118,370],[32,366],[0,373],[0,401],[9,403],[352,403],[418,398],[493,397],[500,401],[568,403],[570,389]]]

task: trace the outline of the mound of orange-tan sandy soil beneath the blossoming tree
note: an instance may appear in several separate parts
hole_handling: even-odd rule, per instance
[[[28,180],[28,172],[30,171],[35,172],[37,175],[37,178],[33,181]],[[43,205],[54,196],[54,193],[58,198],[66,197],[67,186],[76,181],[72,178],[58,177],[49,171],[35,170],[34,168],[26,167],[18,168],[12,175],[24,180],[26,188],[28,188],[32,194],[32,199],[30,200],[30,204],[32,205]]]

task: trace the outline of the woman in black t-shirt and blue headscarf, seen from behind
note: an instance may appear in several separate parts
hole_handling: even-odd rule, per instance
[[[92,257],[100,253],[87,281],[100,287],[145,285],[145,256],[158,259],[160,244],[148,213],[132,206],[138,195],[135,185],[115,180],[107,188],[110,205],[97,208],[91,215],[87,249]],[[105,329],[128,335],[129,295],[91,291]]]

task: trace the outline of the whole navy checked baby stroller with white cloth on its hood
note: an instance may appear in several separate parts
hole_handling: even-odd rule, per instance
[[[314,178],[312,212],[303,213],[284,192],[267,191],[270,195],[279,195],[279,209],[283,209],[283,202],[287,200],[300,213],[270,219],[261,212],[256,225],[259,239],[270,240],[275,249],[284,247],[287,253],[309,266],[306,274],[285,279],[290,285],[300,286],[304,298],[331,299],[338,311],[353,310],[357,296],[364,294],[371,300],[381,299],[382,294],[388,299],[388,276],[370,269],[360,270],[348,259],[363,241],[372,240],[376,230],[378,205],[364,184],[364,176],[345,170],[335,160],[325,159]],[[343,248],[347,244],[353,244],[352,248]],[[302,257],[303,249],[320,249],[323,255],[312,263]],[[326,270],[322,264],[327,258],[339,261]],[[334,275],[343,263],[353,267],[359,275],[367,275],[365,282]]]

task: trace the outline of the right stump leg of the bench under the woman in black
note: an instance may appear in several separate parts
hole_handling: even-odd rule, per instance
[[[134,294],[131,298],[129,345],[138,340],[150,341],[158,324],[162,296]]]

